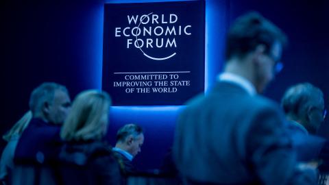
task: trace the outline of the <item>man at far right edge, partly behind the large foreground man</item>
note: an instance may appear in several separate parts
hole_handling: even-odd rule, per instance
[[[323,160],[320,169],[328,171],[328,140],[315,135],[326,117],[324,93],[310,83],[296,84],[284,93],[281,105],[299,160]]]

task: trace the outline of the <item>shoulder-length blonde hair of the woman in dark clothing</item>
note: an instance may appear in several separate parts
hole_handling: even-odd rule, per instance
[[[99,140],[108,124],[108,93],[86,90],[77,95],[60,136],[63,140]]]

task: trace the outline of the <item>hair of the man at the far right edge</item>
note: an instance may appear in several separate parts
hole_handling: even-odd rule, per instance
[[[296,84],[284,93],[281,105],[284,113],[301,119],[309,106],[314,106],[324,101],[322,91],[310,83]]]

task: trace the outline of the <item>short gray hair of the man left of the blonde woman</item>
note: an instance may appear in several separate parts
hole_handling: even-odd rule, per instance
[[[31,96],[29,97],[29,110],[32,111],[33,116],[40,114],[44,103],[53,102],[53,97],[56,90],[62,90],[65,93],[68,93],[65,86],[54,82],[42,83],[32,91]]]

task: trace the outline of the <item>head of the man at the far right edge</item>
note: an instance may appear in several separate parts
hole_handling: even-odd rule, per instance
[[[302,124],[311,134],[316,134],[326,116],[324,94],[309,83],[288,88],[281,105],[287,119]]]

